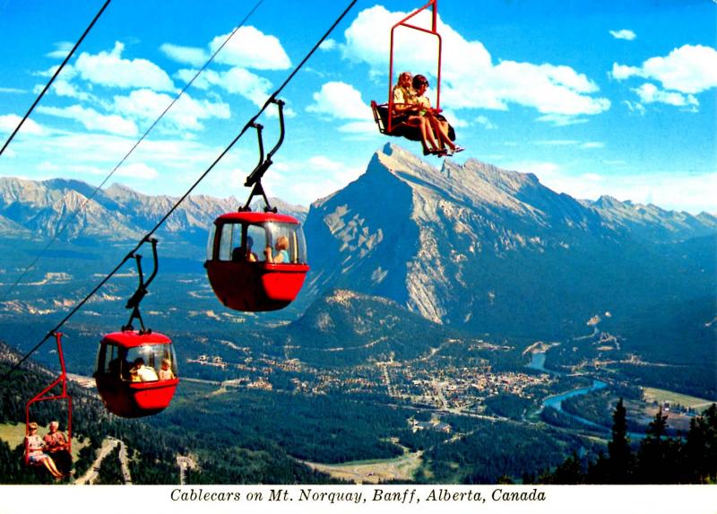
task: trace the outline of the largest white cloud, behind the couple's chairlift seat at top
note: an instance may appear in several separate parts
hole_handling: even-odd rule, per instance
[[[371,65],[374,73],[382,76],[388,67],[386,48],[391,26],[407,14],[391,13],[380,5],[358,13],[344,32],[343,56]],[[420,13],[411,22],[429,27],[429,16],[428,12]],[[593,96],[599,91],[597,84],[569,66],[509,60],[495,65],[482,43],[464,39],[440,17],[438,31],[443,38],[441,96],[443,103],[453,109],[507,110],[510,104],[518,104],[544,114],[577,116],[598,114],[610,107],[608,99]],[[396,71],[420,70],[435,77],[436,39],[401,28],[395,31],[395,36]]]

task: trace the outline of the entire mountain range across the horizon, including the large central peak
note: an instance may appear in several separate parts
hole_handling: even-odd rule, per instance
[[[175,201],[118,184],[95,191],[76,180],[3,178],[0,238],[47,240],[82,205],[60,239],[97,252],[107,242],[139,240]],[[308,212],[272,203],[305,222],[311,266],[287,319],[292,324],[283,329],[315,337],[317,345],[361,330],[381,337],[390,331],[385,319],[391,311],[425,318],[431,327],[531,341],[589,333],[589,321],[600,316],[603,327],[630,334],[627,347],[644,350],[655,337],[648,330],[654,319],[682,312],[670,336],[682,330],[683,351],[714,361],[713,347],[704,345],[714,340],[717,326],[712,214],[609,196],[577,200],[535,175],[475,159],[462,165],[445,160],[436,169],[395,144],[386,144],[365,173]],[[203,274],[197,247],[204,248],[213,219],[237,206],[233,197],[190,196],[160,235],[190,243],[191,256],[173,257],[196,262],[192,273]],[[360,305],[375,299],[370,309],[378,314],[358,316],[357,301],[330,301],[337,291],[358,294]],[[687,303],[702,308],[685,311]],[[325,322],[329,318],[333,324]],[[412,321],[410,327],[428,330]],[[650,341],[641,334],[650,334]]]

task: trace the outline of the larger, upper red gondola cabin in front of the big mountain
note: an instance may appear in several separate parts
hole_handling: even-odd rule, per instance
[[[214,222],[204,267],[229,309],[283,309],[296,298],[309,269],[304,231],[287,214],[223,214]]]

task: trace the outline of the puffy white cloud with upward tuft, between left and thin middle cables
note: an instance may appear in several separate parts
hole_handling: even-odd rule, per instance
[[[124,59],[124,49],[117,41],[111,52],[94,56],[82,52],[74,68],[84,80],[107,87],[175,91],[172,79],[158,65],[146,59]]]

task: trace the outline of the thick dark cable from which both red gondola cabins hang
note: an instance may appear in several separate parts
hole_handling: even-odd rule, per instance
[[[0,382],[3,382],[5,379],[7,379],[7,378],[13,373],[14,370],[17,370],[17,369],[21,366],[22,362],[27,361],[28,358],[30,358],[30,355],[31,355],[32,353],[35,353],[35,352],[39,349],[39,347],[42,346],[42,344],[45,344],[45,342],[46,342],[53,334],[55,334],[57,330],[59,330],[63,325],[65,325],[65,323],[66,323],[70,318],[72,318],[72,317],[74,316],[74,314],[75,314],[78,310],[82,309],[82,306],[83,306],[85,303],[87,303],[87,301],[89,301],[89,300],[91,299],[91,297],[94,296],[94,294],[97,293],[97,292],[99,291],[99,289],[100,289],[105,283],[108,283],[109,279],[112,278],[112,276],[113,276],[114,274],[116,274],[117,271],[119,271],[119,269],[120,269],[122,266],[125,265],[125,262],[127,262],[129,259],[131,259],[132,257],[134,257],[134,252],[136,252],[140,247],[142,247],[142,245],[143,245],[146,241],[148,241],[148,240],[151,239],[151,236],[154,234],[154,232],[156,232],[156,231],[158,231],[158,230],[160,229],[160,226],[161,226],[164,222],[166,222],[167,219],[168,219],[168,217],[169,217],[172,213],[174,213],[174,212],[177,210],[177,208],[179,207],[179,205],[182,204],[182,202],[184,202],[184,201],[186,200],[186,197],[189,196],[189,195],[192,193],[192,191],[194,190],[194,188],[197,187],[197,186],[199,185],[199,183],[202,182],[202,180],[209,174],[209,172],[214,169],[214,167],[215,167],[215,166],[217,165],[217,163],[224,157],[224,155],[226,155],[227,152],[229,152],[229,150],[231,150],[231,148],[232,148],[235,144],[237,144],[238,140],[241,139],[242,135],[245,135],[245,134],[246,134],[246,131],[247,131],[250,127],[254,126],[253,124],[255,123],[256,118],[259,118],[259,117],[262,115],[263,111],[266,110],[266,108],[269,107],[269,105],[271,105],[272,102],[276,100],[276,97],[279,95],[279,93],[281,92],[281,90],[283,90],[284,87],[286,87],[286,85],[291,81],[291,79],[293,79],[294,76],[295,76],[296,74],[298,74],[298,71],[301,69],[301,67],[307,63],[307,60],[308,60],[311,56],[314,55],[316,49],[319,48],[319,46],[324,42],[324,40],[329,37],[329,34],[332,33],[333,29],[336,28],[336,25],[338,25],[338,24],[341,22],[341,20],[343,20],[343,18],[346,16],[346,14],[349,13],[349,11],[350,11],[351,8],[354,6],[354,4],[356,4],[356,1],[357,1],[357,0],[352,0],[352,1],[350,2],[349,6],[346,7],[346,9],[343,11],[343,13],[341,13],[341,15],[336,19],[336,21],[333,22],[333,25],[329,28],[329,30],[326,30],[326,32],[325,32],[324,35],[321,37],[321,39],[319,39],[319,40],[316,42],[316,44],[314,45],[314,48],[311,48],[311,50],[307,53],[307,56],[304,57],[304,59],[294,68],[294,70],[289,74],[289,76],[288,76],[287,79],[281,84],[281,86],[279,86],[279,89],[277,89],[276,91],[272,92],[272,95],[266,100],[266,102],[264,102],[263,107],[262,107],[261,109],[259,109],[259,112],[257,112],[254,117],[252,117],[251,119],[249,119],[249,121],[246,122],[246,125],[244,126],[244,128],[241,129],[241,132],[239,132],[239,134],[231,141],[231,143],[229,143],[229,145],[220,153],[219,157],[217,157],[217,158],[212,162],[212,164],[209,166],[209,168],[207,168],[206,170],[204,170],[204,172],[203,172],[202,175],[199,177],[199,179],[196,179],[196,181],[194,182],[194,184],[192,185],[192,187],[189,187],[189,189],[187,189],[187,191],[186,191],[186,193],[184,194],[184,196],[182,196],[181,198],[179,198],[179,199],[177,200],[177,202],[175,203],[175,205],[173,205],[172,208],[169,209],[168,213],[166,213],[166,214],[164,215],[164,217],[162,217],[162,219],[160,220],[160,222],[158,222],[158,223],[154,226],[154,228],[153,228],[151,231],[149,231],[149,232],[143,237],[142,240],[140,240],[139,243],[137,243],[137,245],[122,259],[122,262],[120,262],[111,272],[109,272],[109,274],[107,274],[107,276],[105,276],[105,278],[103,278],[103,279],[95,286],[95,288],[92,289],[92,291],[91,291],[87,296],[85,296],[84,299],[82,299],[82,301],[80,301],[77,305],[74,306],[74,308],[65,316],[65,318],[62,319],[62,321],[60,321],[54,328],[52,328],[52,329],[48,332],[48,335],[45,335],[45,337],[44,337],[38,344],[36,344],[36,345],[30,350],[30,352],[26,353],[26,354],[22,357],[22,359],[20,359],[18,362],[16,362],[16,363],[13,365],[13,367],[12,367],[10,370],[8,370],[8,371],[3,375],[3,378],[0,379]]]

